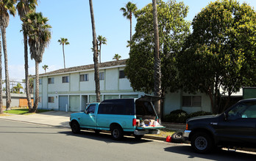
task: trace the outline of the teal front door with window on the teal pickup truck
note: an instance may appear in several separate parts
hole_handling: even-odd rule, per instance
[[[82,116],[83,127],[88,127],[96,129],[96,105],[92,104],[86,109],[84,115]]]

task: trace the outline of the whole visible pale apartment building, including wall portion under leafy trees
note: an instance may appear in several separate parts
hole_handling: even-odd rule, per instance
[[[145,93],[133,91],[124,75],[126,60],[99,64],[101,100],[138,98]],[[40,74],[38,108],[59,111],[84,111],[89,102],[96,102],[93,64],[70,67]],[[163,114],[182,109],[188,113],[211,111],[205,94],[188,94],[179,90],[167,92]]]

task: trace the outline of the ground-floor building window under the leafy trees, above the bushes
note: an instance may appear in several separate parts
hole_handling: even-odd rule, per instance
[[[201,107],[202,97],[201,96],[183,96],[182,106],[183,107]]]

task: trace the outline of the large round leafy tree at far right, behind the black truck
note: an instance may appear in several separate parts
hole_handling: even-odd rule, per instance
[[[180,82],[185,91],[207,94],[213,113],[221,113],[221,95],[256,84],[256,12],[235,0],[215,1],[192,25],[177,57]]]

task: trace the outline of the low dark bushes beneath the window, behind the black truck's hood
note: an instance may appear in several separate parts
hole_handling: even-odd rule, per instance
[[[175,110],[171,111],[170,114],[163,117],[163,121],[175,122],[175,123],[186,123],[186,120],[196,116],[212,115],[213,113],[205,111],[197,111],[191,114],[186,113],[186,111]]]

